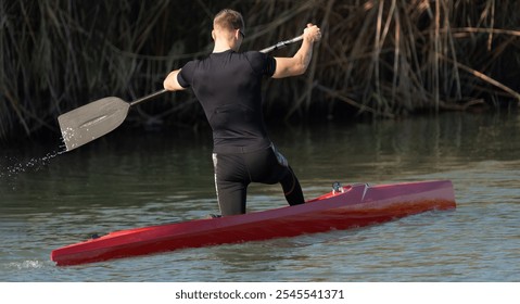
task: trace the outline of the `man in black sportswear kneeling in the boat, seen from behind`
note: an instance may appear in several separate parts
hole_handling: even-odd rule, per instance
[[[308,24],[294,56],[272,58],[257,51],[239,53],[244,29],[239,12],[220,11],[213,22],[213,53],[188,62],[164,80],[170,91],[191,87],[212,126],[215,188],[223,216],[245,213],[251,182],[280,182],[290,205],[305,202],[296,176],[267,136],[261,88],[265,76],[305,73],[320,30]]]

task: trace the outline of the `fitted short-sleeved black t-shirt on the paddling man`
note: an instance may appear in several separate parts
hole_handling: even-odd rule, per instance
[[[276,61],[267,54],[228,50],[188,62],[179,85],[193,89],[213,129],[214,151],[270,144],[262,111],[262,79],[272,76]]]

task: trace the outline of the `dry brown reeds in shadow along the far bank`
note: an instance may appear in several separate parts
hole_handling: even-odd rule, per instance
[[[245,17],[243,49],[292,38],[307,22],[325,34],[306,75],[267,81],[266,116],[393,118],[520,101],[518,1],[8,0],[0,138],[54,132],[58,115],[89,101],[161,89],[170,69],[211,52],[212,18],[226,7]],[[193,125],[201,113],[192,94],[172,93],[137,106],[128,125]]]

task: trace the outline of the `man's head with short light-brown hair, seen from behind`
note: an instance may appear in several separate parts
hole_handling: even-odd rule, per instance
[[[225,9],[218,12],[213,20],[212,36],[215,41],[221,39],[233,50],[238,50],[244,35],[244,20],[237,11]]]

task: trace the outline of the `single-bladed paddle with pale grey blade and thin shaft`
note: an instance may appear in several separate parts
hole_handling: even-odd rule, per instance
[[[278,42],[261,50],[261,52],[268,53],[301,41],[302,39],[303,35]],[[109,134],[123,124],[130,106],[153,99],[165,92],[167,92],[167,90],[163,89],[132,102],[126,102],[116,97],[106,97],[60,115],[58,122],[66,151],[76,149]]]

